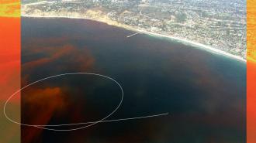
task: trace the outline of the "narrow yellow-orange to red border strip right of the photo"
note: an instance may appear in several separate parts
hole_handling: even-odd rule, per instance
[[[256,1],[247,0],[247,143],[256,142]]]

